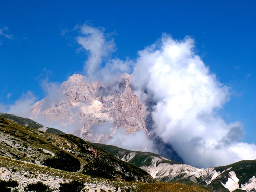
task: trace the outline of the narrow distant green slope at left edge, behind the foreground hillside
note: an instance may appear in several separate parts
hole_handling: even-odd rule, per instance
[[[26,127],[31,127],[33,129],[39,129],[39,130],[41,130],[43,132],[46,132],[46,133],[54,133],[54,134],[59,134],[59,135],[65,134],[61,130],[54,129],[54,128],[49,128],[49,127],[44,127],[42,124],[39,124],[39,123],[33,121],[32,119],[19,117],[19,116],[16,116],[14,114],[0,113],[0,117],[4,117],[6,119],[9,119],[13,122],[16,122],[17,124],[20,124],[20,125],[23,125],[23,126],[26,126]]]

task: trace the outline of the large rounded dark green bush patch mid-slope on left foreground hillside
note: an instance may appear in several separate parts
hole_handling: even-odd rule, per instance
[[[47,165],[54,169],[60,169],[64,171],[78,171],[80,169],[80,161],[70,154],[59,151],[54,158],[48,158],[43,162],[43,165]]]

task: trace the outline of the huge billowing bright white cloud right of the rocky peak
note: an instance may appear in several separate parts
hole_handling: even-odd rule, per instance
[[[248,157],[237,147],[243,137],[241,124],[226,123],[216,113],[229,101],[229,87],[195,54],[192,38],[177,41],[163,34],[138,54],[131,76],[134,92],[140,101],[156,103],[154,132],[186,163],[213,167]],[[250,159],[256,159],[256,146],[249,149],[255,154]]]

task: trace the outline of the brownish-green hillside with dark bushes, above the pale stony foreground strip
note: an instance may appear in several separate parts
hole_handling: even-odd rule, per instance
[[[144,170],[74,135],[44,133],[5,118],[0,118],[0,155],[94,177],[155,182]]]

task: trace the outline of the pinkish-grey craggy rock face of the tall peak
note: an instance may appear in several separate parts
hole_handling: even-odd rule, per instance
[[[74,74],[63,82],[56,97],[35,103],[31,108],[33,116],[41,114],[64,126],[79,122],[80,128],[75,130],[76,134],[93,142],[111,139],[120,127],[127,134],[138,130],[147,133],[146,107],[132,94],[129,74],[123,74],[121,81],[112,86],[104,86],[98,81],[90,82],[84,76]],[[110,130],[94,132],[93,128],[107,122],[110,123]]]

